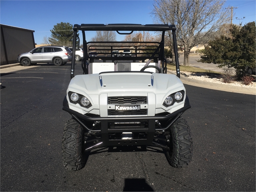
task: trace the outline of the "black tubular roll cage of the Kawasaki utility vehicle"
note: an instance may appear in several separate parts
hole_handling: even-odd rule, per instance
[[[77,35],[78,31],[82,31],[83,36],[83,48],[84,48],[84,58],[82,59],[82,69],[84,71],[84,74],[88,74],[88,64],[90,62],[94,62],[95,57],[90,56],[90,51],[97,50],[101,54],[110,54],[111,59],[109,57],[104,56],[97,56],[97,59],[102,59],[103,62],[106,62],[106,60],[112,60],[112,62],[117,62],[117,60],[133,60],[133,62],[136,62],[136,60],[141,60],[144,62],[146,59],[153,60],[154,62],[161,61],[161,71],[162,73],[167,73],[167,61],[164,58],[164,34],[166,31],[171,30],[172,31],[172,38],[173,38],[173,46],[174,46],[174,58],[175,58],[175,65],[176,65],[176,75],[178,78],[180,78],[180,67],[179,67],[179,61],[178,61],[178,48],[177,48],[177,42],[176,42],[176,27],[175,25],[168,25],[168,24],[75,24],[73,27],[74,30],[74,36],[73,36],[73,50],[75,50],[76,45],[78,45],[78,48],[80,46],[80,38]],[[158,31],[162,32],[162,39],[161,42],[86,42],[86,35],[85,31],[116,31],[118,34],[132,34],[134,31]],[[128,31],[128,32],[127,32]],[[78,44],[77,44],[78,39]],[[90,45],[90,44],[97,44],[100,43],[101,45]],[[143,49],[142,49],[142,43]],[[106,45],[102,45],[106,44]],[[132,57],[123,56],[123,57],[113,57],[113,50],[118,50],[118,48],[122,48],[124,50],[127,48],[128,44],[139,44],[139,45],[133,45],[134,52],[132,53]],[[147,44],[147,45],[146,45]],[[152,45],[152,44],[158,44]],[[156,47],[156,49],[152,49],[152,47]],[[92,49],[94,48],[94,49]],[[127,48],[130,49],[130,48]],[[150,51],[151,56],[146,55],[145,53],[141,53],[140,51],[146,50]],[[95,54],[98,54],[99,52],[96,52]],[[71,79],[74,77],[74,70],[75,70],[75,54],[76,52],[72,52],[72,62],[71,62],[71,72],[70,77]],[[121,53],[120,53],[121,54]],[[148,54],[148,53],[147,53]]]

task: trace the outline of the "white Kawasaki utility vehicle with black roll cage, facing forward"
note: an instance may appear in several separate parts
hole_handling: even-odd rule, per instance
[[[181,115],[190,104],[179,78],[176,27],[75,24],[73,30],[73,49],[80,45],[78,30],[83,36],[83,74],[74,74],[73,52],[71,81],[63,101],[63,110],[71,115],[62,138],[64,166],[68,170],[80,170],[86,163],[86,152],[126,146],[162,148],[171,166],[186,166],[192,158],[192,138],[190,127]],[[162,40],[86,42],[86,31],[116,31],[124,35],[133,31],[158,31],[162,32]],[[166,31],[172,31],[176,75],[167,74]],[[112,54],[114,50],[127,49],[132,50],[132,56]],[[88,54],[92,51],[96,52],[96,58]]]

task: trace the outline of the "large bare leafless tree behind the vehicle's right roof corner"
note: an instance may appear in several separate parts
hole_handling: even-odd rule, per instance
[[[205,44],[228,21],[226,0],[154,0],[155,23],[175,24],[177,42],[184,46],[184,65],[192,47]],[[170,36],[170,34],[168,34]]]

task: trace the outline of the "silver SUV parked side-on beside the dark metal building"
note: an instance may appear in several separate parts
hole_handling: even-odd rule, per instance
[[[23,66],[36,63],[54,63],[56,66],[61,66],[71,59],[72,52],[68,47],[40,46],[30,52],[19,54],[17,61]]]

